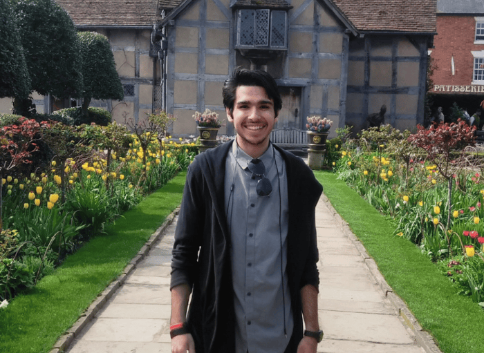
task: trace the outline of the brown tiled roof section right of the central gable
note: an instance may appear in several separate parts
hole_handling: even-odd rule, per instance
[[[361,32],[436,32],[436,0],[330,1]]]

